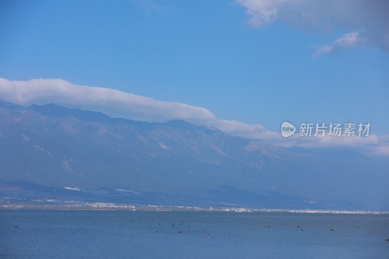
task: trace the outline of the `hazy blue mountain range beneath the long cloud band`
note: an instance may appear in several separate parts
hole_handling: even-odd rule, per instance
[[[388,163],[280,148],[185,121],[0,102],[0,180],[280,207],[389,208]]]

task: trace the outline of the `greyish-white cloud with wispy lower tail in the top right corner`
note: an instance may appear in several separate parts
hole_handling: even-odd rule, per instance
[[[236,0],[246,9],[253,26],[282,20],[310,33],[348,30],[331,45],[318,48],[316,55],[340,48],[378,47],[389,51],[388,0]],[[359,33],[356,33],[359,32]],[[363,43],[363,44],[362,44]]]

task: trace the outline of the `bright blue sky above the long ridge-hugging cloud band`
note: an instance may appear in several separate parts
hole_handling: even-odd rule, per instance
[[[0,78],[108,87],[272,132],[352,121],[388,134],[388,4],[319,2],[2,0]]]

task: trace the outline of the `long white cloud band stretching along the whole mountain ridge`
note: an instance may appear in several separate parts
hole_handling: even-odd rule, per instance
[[[61,79],[10,81],[0,78],[0,100],[28,106],[54,103],[70,108],[100,111],[112,117],[141,121],[181,119],[195,124],[214,126],[231,135],[263,139],[272,144],[305,148],[342,146],[365,155],[389,156],[389,135],[358,137],[298,137],[283,138],[279,132],[267,130],[260,124],[246,124],[216,118],[206,108],[181,103],[154,100],[103,87],[79,86]],[[296,133],[298,135],[298,133]]]

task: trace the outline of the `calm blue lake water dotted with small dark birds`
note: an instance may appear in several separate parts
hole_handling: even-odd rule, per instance
[[[389,215],[0,210],[1,258],[389,258],[386,239]]]

